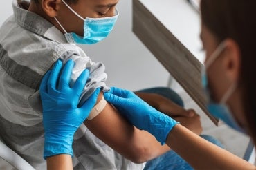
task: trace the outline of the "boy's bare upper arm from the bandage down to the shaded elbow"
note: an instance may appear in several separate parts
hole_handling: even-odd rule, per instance
[[[103,95],[100,93],[98,102],[102,97]],[[129,141],[133,138],[134,126],[131,126],[118,114],[118,111],[111,104],[107,103],[100,114],[92,120],[86,120],[84,124],[109,147],[121,154],[129,153],[128,145],[131,144]],[[127,157],[129,158],[129,155]]]

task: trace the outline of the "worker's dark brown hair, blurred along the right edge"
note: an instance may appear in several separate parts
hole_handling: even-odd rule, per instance
[[[256,143],[256,1],[255,0],[201,0],[203,25],[217,37],[219,43],[230,38],[241,51],[239,84],[243,89],[249,133]]]

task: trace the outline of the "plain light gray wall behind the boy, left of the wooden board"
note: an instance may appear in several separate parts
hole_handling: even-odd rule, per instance
[[[120,0],[120,17],[107,39],[81,46],[93,61],[103,62],[109,86],[130,90],[166,86],[168,73],[131,31],[131,0]],[[12,14],[12,1],[1,3],[0,24]]]

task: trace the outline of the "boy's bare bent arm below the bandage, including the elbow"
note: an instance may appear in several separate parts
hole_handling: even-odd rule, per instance
[[[170,151],[167,145],[161,146],[147,131],[140,131],[129,124],[111,104],[107,104],[102,113],[84,124],[109,147],[136,163],[146,162]]]

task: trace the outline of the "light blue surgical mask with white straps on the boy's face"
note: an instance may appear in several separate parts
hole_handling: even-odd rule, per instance
[[[62,0],[62,2],[75,14],[77,17],[80,17],[84,21],[84,37],[80,37],[74,32],[66,32],[64,27],[60,24],[60,22],[55,18],[57,23],[60,25],[62,30],[65,32],[65,37],[68,43],[71,44],[95,44],[102,39],[105,39],[111,30],[113,30],[113,26],[118,19],[118,10],[116,9],[116,15],[113,17],[104,17],[104,18],[88,18],[84,19],[80,15],[77,14],[68,4]]]

